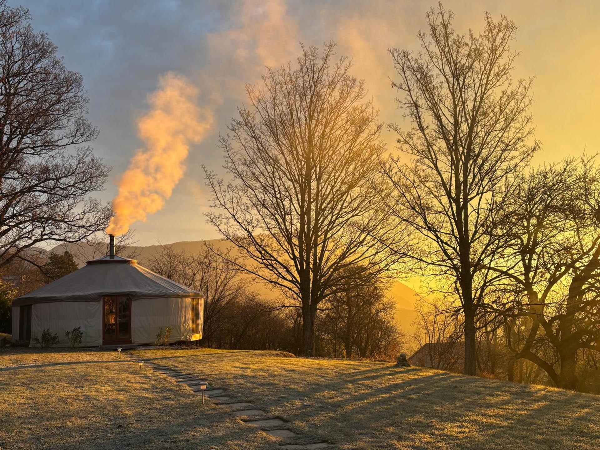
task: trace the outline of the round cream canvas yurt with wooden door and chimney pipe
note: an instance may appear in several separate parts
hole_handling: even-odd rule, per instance
[[[146,269],[136,260],[109,255],[13,300],[13,337],[29,341],[48,329],[56,346],[68,346],[65,332],[81,327],[81,346],[151,344],[160,328],[172,328],[169,342],[202,338],[204,299],[199,292]]]

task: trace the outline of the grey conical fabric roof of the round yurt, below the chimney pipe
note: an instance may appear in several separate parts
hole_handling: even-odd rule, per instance
[[[140,298],[199,298],[202,295],[140,266],[136,260],[104,256],[13,300],[13,306],[56,301],[96,301],[108,295]]]

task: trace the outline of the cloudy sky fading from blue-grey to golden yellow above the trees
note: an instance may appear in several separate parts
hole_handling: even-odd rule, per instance
[[[402,123],[390,79],[388,49],[418,50],[415,35],[425,30],[425,11],[434,1],[160,1],[9,0],[29,8],[32,25],[46,31],[69,70],[88,89],[88,118],[100,128],[92,143],[112,174],[110,201],[130,160],[145,141],[139,122],[148,117],[165,77],[185,80],[194,101],[210,120],[187,143],[182,176],[160,211],[136,221],[139,245],[220,237],[206,223],[209,193],[202,165],[218,173],[224,133],[236,107],[247,103],[244,83],[256,84],[265,65],[295,59],[300,44],[338,42],[338,54],[353,61],[365,79],[380,120]],[[478,32],[484,11],[517,23],[513,48],[521,52],[515,77],[535,76],[532,106],[542,149],[534,164],[600,150],[600,2],[443,2],[455,13],[455,29]],[[162,84],[161,84],[162,83]],[[154,102],[154,103],[153,103]],[[141,137],[140,137],[141,136]],[[394,136],[383,135],[389,151]]]

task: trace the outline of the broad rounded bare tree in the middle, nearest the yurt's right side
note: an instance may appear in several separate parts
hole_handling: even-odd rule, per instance
[[[245,271],[298,302],[305,355],[320,302],[354,277],[349,268],[384,271],[392,256],[377,238],[395,232],[371,187],[383,189],[377,111],[334,50],[302,47],[295,67],[267,68],[262,89],[247,86],[251,107],[220,139],[233,180],[205,169],[209,221],[241,251]]]

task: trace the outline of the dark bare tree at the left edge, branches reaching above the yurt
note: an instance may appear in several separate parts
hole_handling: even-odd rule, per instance
[[[33,262],[25,250],[81,241],[110,218],[109,206],[88,197],[109,169],[81,146],[98,134],[85,119],[82,77],[29,19],[0,0],[0,266]]]

